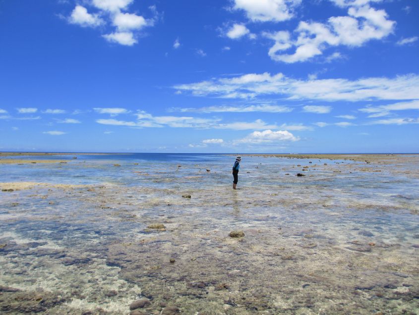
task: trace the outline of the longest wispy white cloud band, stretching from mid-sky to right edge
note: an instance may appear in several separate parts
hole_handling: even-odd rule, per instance
[[[279,95],[288,99],[326,101],[403,100],[419,99],[419,75],[395,78],[291,79],[279,73],[247,74],[233,78],[212,78],[173,86],[195,96],[212,95],[223,98],[253,98]]]

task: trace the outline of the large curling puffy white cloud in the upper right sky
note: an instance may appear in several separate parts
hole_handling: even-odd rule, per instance
[[[268,52],[271,59],[285,63],[303,62],[323,54],[328,47],[357,47],[372,39],[382,39],[393,32],[395,22],[387,19],[384,10],[370,7],[367,4],[369,1],[363,1],[366,2],[364,5],[360,5],[361,1],[357,0],[336,2],[344,6],[353,5],[348,9],[348,16],[330,17],[327,23],[300,21],[294,31],[297,34],[296,39],[292,39],[287,31],[262,33],[266,38],[275,41]],[[284,53],[293,47],[294,53]],[[326,60],[330,61],[330,58]]]

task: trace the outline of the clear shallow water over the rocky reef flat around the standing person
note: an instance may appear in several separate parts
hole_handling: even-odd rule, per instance
[[[418,156],[76,157],[0,164],[5,314],[419,312]]]

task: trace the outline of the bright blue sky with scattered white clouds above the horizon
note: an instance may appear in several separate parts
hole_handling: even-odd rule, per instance
[[[0,151],[419,152],[417,0],[0,0]]]

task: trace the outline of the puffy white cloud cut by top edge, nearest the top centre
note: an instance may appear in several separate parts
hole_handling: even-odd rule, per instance
[[[254,22],[280,22],[293,17],[292,8],[301,0],[234,0],[234,9],[244,10]]]

